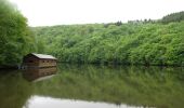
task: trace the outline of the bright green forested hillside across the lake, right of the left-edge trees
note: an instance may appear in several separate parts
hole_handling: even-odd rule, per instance
[[[39,52],[58,62],[184,66],[184,22],[163,19],[32,29]]]

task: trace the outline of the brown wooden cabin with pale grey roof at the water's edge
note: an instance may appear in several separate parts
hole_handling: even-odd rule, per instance
[[[23,66],[26,68],[56,67],[56,58],[52,55],[30,53],[24,56]]]

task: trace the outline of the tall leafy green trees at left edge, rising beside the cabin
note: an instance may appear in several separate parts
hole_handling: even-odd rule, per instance
[[[27,19],[8,0],[0,0],[0,68],[15,67],[36,50]]]

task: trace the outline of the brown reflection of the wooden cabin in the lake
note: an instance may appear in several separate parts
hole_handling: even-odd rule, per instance
[[[23,77],[28,81],[41,80],[52,77],[56,73],[56,67],[27,68],[23,71]]]

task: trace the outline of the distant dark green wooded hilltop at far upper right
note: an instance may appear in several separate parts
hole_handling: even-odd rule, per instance
[[[169,15],[162,17],[161,23],[168,24],[171,22],[181,22],[181,21],[184,21],[184,11],[178,12],[178,13],[172,13],[172,14],[169,14]]]

